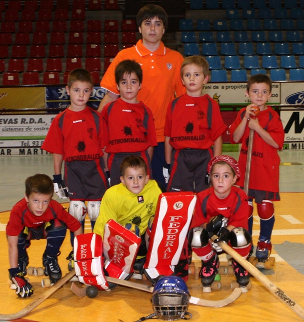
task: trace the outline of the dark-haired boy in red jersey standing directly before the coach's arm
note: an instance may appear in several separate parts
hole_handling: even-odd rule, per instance
[[[141,156],[148,165],[153,147],[157,146],[151,110],[137,100],[141,89],[142,69],[134,60],[123,60],[115,69],[115,80],[120,98],[108,103],[101,112],[105,121],[105,152],[111,186],[121,183],[120,165],[129,155]]]

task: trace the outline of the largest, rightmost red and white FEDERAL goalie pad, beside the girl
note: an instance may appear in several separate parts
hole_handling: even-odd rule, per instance
[[[150,280],[174,273],[193,216],[196,195],[167,192],[159,196],[146,261],[143,266]]]

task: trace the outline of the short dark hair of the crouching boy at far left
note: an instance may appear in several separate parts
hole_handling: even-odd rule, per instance
[[[29,176],[25,180],[25,194],[29,197],[33,192],[53,197],[54,184],[52,179],[48,175],[41,173]]]

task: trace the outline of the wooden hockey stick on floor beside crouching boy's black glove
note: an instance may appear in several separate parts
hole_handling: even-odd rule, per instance
[[[35,307],[40,305],[44,300],[53,295],[57,290],[63,287],[73,276],[75,276],[75,270],[71,270],[65,276],[58,280],[52,287],[45,291],[42,295],[34,299],[28,305],[26,305],[22,310],[12,314],[0,314],[0,320],[15,320],[17,318],[23,317],[32,311]]]

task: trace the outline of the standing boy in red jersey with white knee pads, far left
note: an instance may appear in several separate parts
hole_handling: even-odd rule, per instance
[[[64,183],[68,187],[69,213],[83,221],[88,212],[93,228],[108,180],[102,152],[103,122],[100,114],[87,106],[92,90],[93,79],[88,70],[77,68],[69,73],[66,92],[70,106],[52,121],[42,149],[53,153],[53,182],[59,197],[61,189],[58,187],[64,187]],[[61,197],[64,196],[61,194]],[[73,244],[72,239],[71,235]]]

